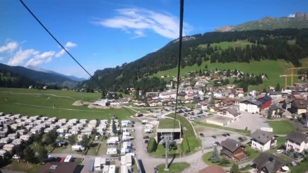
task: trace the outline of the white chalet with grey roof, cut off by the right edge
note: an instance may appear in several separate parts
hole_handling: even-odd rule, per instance
[[[286,151],[294,150],[301,153],[308,149],[308,136],[297,131],[292,131],[287,135]]]

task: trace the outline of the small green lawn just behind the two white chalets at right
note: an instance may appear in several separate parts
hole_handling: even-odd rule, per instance
[[[268,121],[267,123],[273,128],[275,135],[289,134],[294,130],[293,125],[288,121]]]

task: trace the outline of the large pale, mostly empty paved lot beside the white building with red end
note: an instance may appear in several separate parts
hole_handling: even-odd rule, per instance
[[[263,118],[262,115],[259,115],[258,113],[252,114],[249,112],[241,112],[242,113],[242,118],[239,120],[232,122],[226,127],[231,127],[231,128],[237,128],[237,129],[245,129],[246,127],[248,130],[251,132],[254,132],[256,129],[260,129],[261,127],[270,127]]]

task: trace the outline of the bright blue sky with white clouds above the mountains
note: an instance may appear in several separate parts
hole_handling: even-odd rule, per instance
[[[91,73],[131,62],[178,35],[179,1],[30,1],[24,3]],[[308,12],[308,1],[185,1],[184,32],[213,31],[265,16]],[[36,65],[88,77],[18,0],[0,1],[0,63]]]

